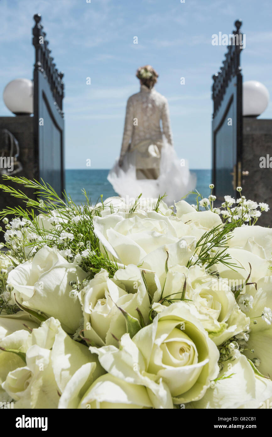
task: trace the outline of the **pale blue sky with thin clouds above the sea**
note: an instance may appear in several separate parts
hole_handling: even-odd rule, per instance
[[[0,0],[0,93],[32,78],[33,15],[41,13],[56,65],[65,73],[66,168],[110,168],[118,156],[136,69],[151,64],[168,98],[174,144],[191,168],[211,164],[211,76],[226,52],[212,35],[243,20],[244,80],[272,94],[271,0]],[[134,44],[134,36],[138,44]],[[86,77],[91,84],[86,84]],[[180,84],[185,77],[185,84]],[[10,115],[0,99],[0,115]],[[261,118],[272,118],[272,104]]]

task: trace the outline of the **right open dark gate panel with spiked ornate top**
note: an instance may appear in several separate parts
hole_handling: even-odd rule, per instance
[[[236,29],[230,35],[223,66],[213,75],[212,150],[215,194],[222,200],[225,194],[234,195],[241,186],[242,174],[242,74],[240,54],[242,22],[235,21]]]

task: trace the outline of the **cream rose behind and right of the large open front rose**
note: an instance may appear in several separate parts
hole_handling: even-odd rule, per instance
[[[199,319],[215,344],[248,329],[250,320],[239,309],[227,279],[207,274],[205,268],[198,265],[189,269],[175,265],[169,267],[163,292],[155,293],[154,302],[162,305],[177,302],[183,290],[184,299],[196,306]],[[155,304],[152,308],[157,312],[163,310],[163,306]]]

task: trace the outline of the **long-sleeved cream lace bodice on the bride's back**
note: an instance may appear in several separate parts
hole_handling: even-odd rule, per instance
[[[162,140],[162,134],[172,145],[167,99],[154,88],[150,90],[141,85],[140,92],[133,94],[127,101],[121,156],[126,153],[130,142],[131,146],[135,146],[146,139]]]

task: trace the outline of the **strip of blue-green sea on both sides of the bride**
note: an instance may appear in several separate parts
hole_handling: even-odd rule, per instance
[[[209,184],[211,183],[211,170],[197,169],[191,171],[196,173],[196,190],[202,194],[203,197],[208,197],[210,194]],[[83,188],[85,188],[92,205],[100,201],[101,194],[103,194],[103,200],[111,196],[118,196],[107,180],[108,173],[109,170],[105,169],[65,170],[65,191],[77,205],[83,203],[85,200],[82,193]],[[189,194],[185,200],[190,204],[195,204],[195,198],[196,196],[194,194]],[[176,199],[176,201],[179,200],[180,199]]]

